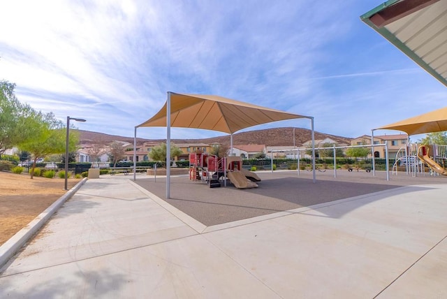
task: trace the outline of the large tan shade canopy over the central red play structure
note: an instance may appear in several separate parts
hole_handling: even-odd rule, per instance
[[[140,126],[166,126],[166,103]],[[170,93],[170,124],[173,127],[235,133],[241,129],[285,119],[312,118],[203,94]]]

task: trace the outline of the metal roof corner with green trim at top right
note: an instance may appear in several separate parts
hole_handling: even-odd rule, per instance
[[[446,0],[390,0],[360,19],[447,86]]]

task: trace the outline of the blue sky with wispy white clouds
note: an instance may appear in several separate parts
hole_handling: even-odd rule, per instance
[[[0,9],[0,80],[79,129],[133,136],[166,92],[216,94],[346,137],[444,107],[447,90],[360,21],[382,1],[15,0]],[[310,128],[298,119],[255,126]],[[399,133],[377,131],[375,134]],[[173,128],[172,138],[223,133]],[[166,128],[141,128],[166,138]]]

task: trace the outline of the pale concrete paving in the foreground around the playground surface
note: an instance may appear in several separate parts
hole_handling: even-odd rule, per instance
[[[447,184],[204,226],[127,179],[88,180],[0,298],[447,297]]]

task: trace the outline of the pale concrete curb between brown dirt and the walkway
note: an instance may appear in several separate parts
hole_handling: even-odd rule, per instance
[[[63,205],[66,200],[71,198],[73,194],[80,189],[80,187],[87,181],[87,177],[85,177],[83,180],[78,182],[78,184],[75,185],[75,187],[71,188],[61,196],[58,200],[56,200],[50,207],[47,207],[47,209],[41,214],[38,214],[34,220],[29,222],[27,226],[22,228],[20,231],[15,233],[13,237],[11,237],[8,241],[3,243],[3,245],[0,246],[0,268],[3,267],[3,265],[6,264],[6,262],[9,261],[11,257],[14,256],[14,254],[38,231],[41,229],[43,224],[52,217],[54,212],[59,210],[59,207]]]

